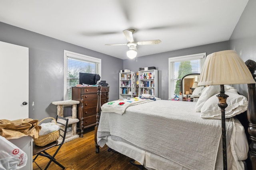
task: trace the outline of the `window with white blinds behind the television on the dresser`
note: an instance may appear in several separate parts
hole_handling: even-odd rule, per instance
[[[101,76],[101,59],[64,50],[64,100],[72,99],[71,87],[79,84],[79,72]]]

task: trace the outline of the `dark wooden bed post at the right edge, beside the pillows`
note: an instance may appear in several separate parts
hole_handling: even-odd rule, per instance
[[[252,76],[255,79],[256,74],[256,62],[252,60],[247,60],[245,64],[248,66]],[[250,139],[249,156],[252,162],[252,169],[256,170],[256,84],[248,84],[248,109],[247,109],[247,118],[249,121],[248,133]]]

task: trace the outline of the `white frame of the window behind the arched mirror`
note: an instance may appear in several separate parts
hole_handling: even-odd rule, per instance
[[[206,59],[206,53],[198,53],[198,54],[168,58],[168,73],[169,73],[168,74],[168,100],[173,99],[173,95],[171,94],[171,90],[170,90],[172,88],[171,79],[174,79],[172,75],[172,72],[174,71],[172,69],[172,62],[191,61],[191,60],[197,60],[197,59],[201,59],[201,62],[200,62],[200,70],[201,70],[204,64],[204,61]]]

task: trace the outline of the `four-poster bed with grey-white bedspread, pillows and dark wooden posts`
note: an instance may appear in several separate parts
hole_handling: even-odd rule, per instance
[[[246,61],[251,72],[254,64]],[[100,107],[99,100],[96,152],[99,146],[108,145],[147,169],[222,169],[220,111],[216,107],[218,99],[214,100],[219,91],[218,86],[206,87],[198,102],[133,98]],[[225,91],[232,99],[226,108],[228,169],[255,167],[255,84],[248,84],[248,101],[232,86],[225,86]],[[248,139],[248,132],[252,140]]]

